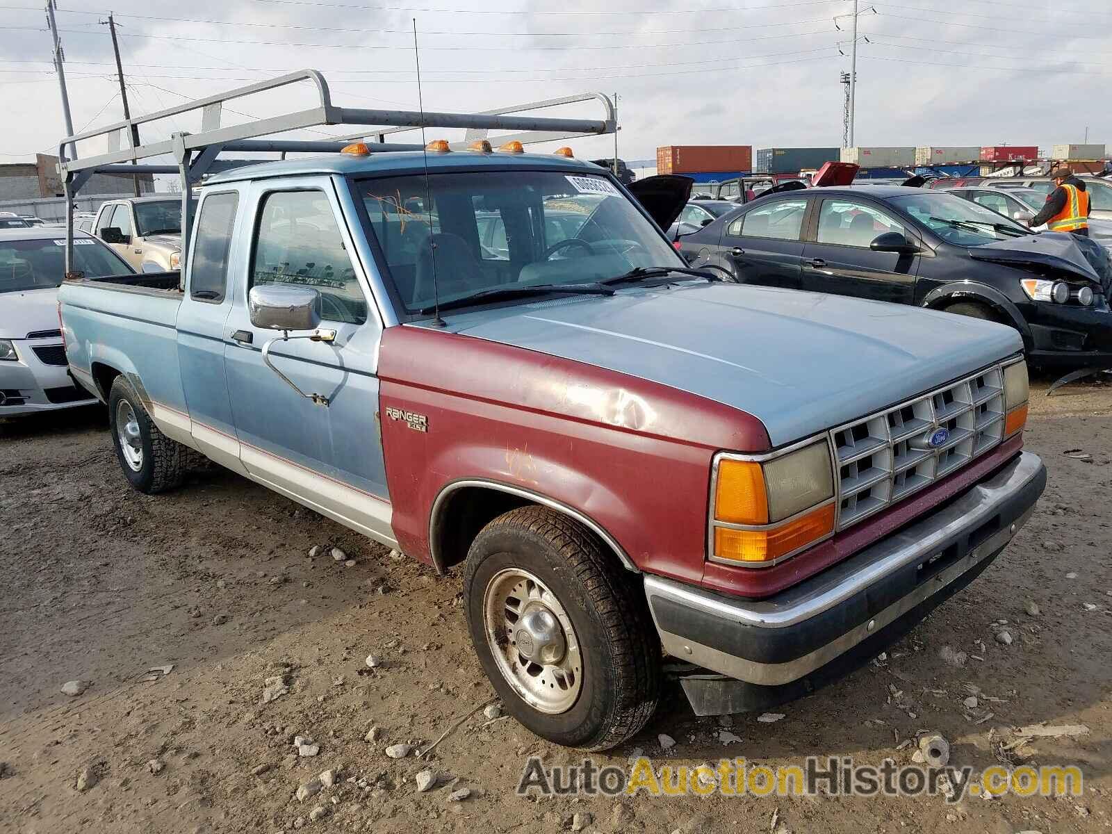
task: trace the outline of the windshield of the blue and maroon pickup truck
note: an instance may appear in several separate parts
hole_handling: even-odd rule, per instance
[[[686,266],[606,177],[433,173],[427,187],[424,175],[408,175],[355,188],[410,315],[492,288],[587,285],[635,267]]]

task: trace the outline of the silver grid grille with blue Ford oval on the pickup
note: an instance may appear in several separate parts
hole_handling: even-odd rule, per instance
[[[960,469],[1003,434],[1002,365],[833,429],[838,529]]]

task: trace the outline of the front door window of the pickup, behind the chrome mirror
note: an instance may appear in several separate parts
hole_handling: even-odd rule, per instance
[[[324,191],[275,191],[264,198],[250,282],[312,287],[320,294],[321,318],[367,320],[367,299]]]

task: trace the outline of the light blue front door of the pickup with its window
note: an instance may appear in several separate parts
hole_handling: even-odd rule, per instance
[[[225,367],[240,460],[255,479],[380,542],[393,539],[378,424],[378,344],[383,328],[363,265],[328,177],[257,180],[246,195],[237,251],[236,298],[225,324]],[[332,342],[281,340],[251,324],[257,284],[320,294],[320,327]],[[278,337],[277,341],[272,341]],[[262,359],[307,394],[302,397]]]

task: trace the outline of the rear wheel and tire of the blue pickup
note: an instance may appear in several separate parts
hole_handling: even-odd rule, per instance
[[[158,430],[122,375],[108,394],[108,425],[116,458],[131,486],[147,495],[180,486],[191,450]]]

